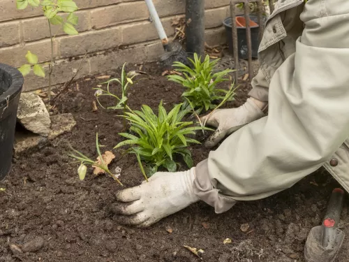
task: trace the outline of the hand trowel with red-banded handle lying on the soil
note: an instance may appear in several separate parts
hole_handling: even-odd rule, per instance
[[[336,188],[332,191],[325,219],[321,226],[311,228],[306,239],[304,256],[306,262],[332,262],[341,249],[344,233],[339,228],[339,219],[343,207],[344,191]]]

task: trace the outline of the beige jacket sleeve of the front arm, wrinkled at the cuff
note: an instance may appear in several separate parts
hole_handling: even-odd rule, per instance
[[[349,1],[308,1],[301,20],[296,52],[270,83],[268,117],[197,166],[195,194],[218,213],[291,187],[349,136]]]

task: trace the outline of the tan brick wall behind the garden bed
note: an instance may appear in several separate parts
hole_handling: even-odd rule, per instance
[[[204,1],[204,0],[202,0]],[[128,63],[155,61],[163,52],[144,1],[75,0],[79,10],[77,36],[57,34],[56,64],[52,84],[59,85],[76,72],[85,52],[87,59],[77,78],[104,73]],[[206,39],[209,45],[225,43],[222,21],[229,14],[229,0],[205,0]],[[185,0],[154,0],[168,37],[174,34],[172,18],[184,14]],[[57,29],[53,29],[57,31]],[[0,0],[0,63],[24,64],[27,50],[38,54],[40,63],[50,60],[47,20],[40,8],[16,10],[15,0]],[[25,78],[24,91],[47,86],[47,78]]]

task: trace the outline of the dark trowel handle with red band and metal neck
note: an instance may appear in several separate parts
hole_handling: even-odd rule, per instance
[[[331,198],[329,198],[329,203],[327,205],[325,219],[322,221],[322,247],[334,247],[336,227],[341,219],[343,199],[343,189],[336,188],[332,191]]]

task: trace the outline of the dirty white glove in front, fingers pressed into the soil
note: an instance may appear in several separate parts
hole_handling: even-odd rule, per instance
[[[149,182],[117,193],[111,211],[120,224],[147,227],[186,208],[199,198],[194,194],[195,168],[185,172],[158,172]]]

